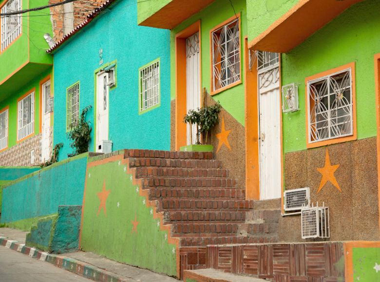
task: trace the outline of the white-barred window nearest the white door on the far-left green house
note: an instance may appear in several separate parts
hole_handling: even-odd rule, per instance
[[[17,141],[34,133],[34,92],[19,101]]]

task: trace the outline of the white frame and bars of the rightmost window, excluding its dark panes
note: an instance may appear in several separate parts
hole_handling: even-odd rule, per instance
[[[348,77],[345,75],[343,76],[343,79],[348,79],[347,83],[341,82],[341,85],[335,84],[335,89],[331,89],[331,87],[334,87],[334,81],[333,76],[346,73],[348,74]],[[315,85],[318,82],[325,81],[326,83],[326,92],[325,94],[318,93],[316,98],[312,98],[311,94],[315,96]],[[344,84],[343,84],[344,83]],[[331,139],[337,139],[345,136],[352,136],[354,135],[354,120],[353,120],[353,114],[354,114],[354,101],[353,101],[353,89],[352,89],[352,68],[348,68],[342,71],[337,71],[335,73],[325,75],[323,77],[307,81],[307,103],[308,103],[308,128],[309,128],[309,143],[315,143],[325,140],[331,140]],[[336,87],[338,86],[338,88]],[[312,88],[314,88],[312,92]],[[344,92],[346,89],[350,89],[350,101],[348,101],[344,96],[339,96],[340,92]],[[337,92],[338,90],[338,92]],[[342,91],[343,90],[343,91]],[[331,102],[330,97],[332,95],[336,94],[336,98]],[[322,96],[320,96],[322,95]],[[311,101],[319,101],[322,98],[327,97],[327,107],[323,103],[319,103],[319,106],[317,106],[317,103],[314,102],[314,106],[311,106]],[[342,98],[341,98],[342,97]],[[349,103],[346,103],[346,101]],[[344,105],[342,104],[344,103]],[[338,110],[342,110],[346,113],[345,115],[341,115],[338,117]],[[318,113],[314,113],[318,111]],[[347,112],[348,111],[348,112]],[[317,121],[317,115],[324,116],[325,119],[322,122]],[[332,117],[335,116],[336,117]],[[342,119],[345,117],[345,120],[343,122],[338,122],[338,119]],[[335,120],[335,121],[334,121]],[[349,123],[348,123],[349,122]],[[323,123],[322,125],[322,131],[323,128],[325,130],[328,130],[327,137],[323,138],[324,134],[320,134],[318,130],[316,130],[315,125],[318,123]],[[345,124],[348,124],[349,127],[344,126]],[[314,126],[314,129],[313,129]],[[342,130],[339,126],[342,126],[342,129],[345,133],[340,133],[339,131]],[[332,134],[333,133],[333,134]],[[335,134],[335,135],[334,135]]]

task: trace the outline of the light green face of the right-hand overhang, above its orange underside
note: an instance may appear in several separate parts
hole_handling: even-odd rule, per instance
[[[248,42],[281,18],[299,0],[247,0]]]

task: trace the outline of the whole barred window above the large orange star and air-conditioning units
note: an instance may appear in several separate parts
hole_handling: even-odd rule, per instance
[[[353,134],[351,69],[307,82],[309,142]]]

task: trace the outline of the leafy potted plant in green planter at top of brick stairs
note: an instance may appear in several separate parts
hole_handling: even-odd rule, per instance
[[[219,103],[216,103],[213,106],[204,106],[197,108],[196,110],[189,110],[189,113],[185,115],[183,122],[190,123],[190,128],[195,124],[196,126],[196,141],[193,144],[193,135],[192,130],[190,130],[190,140],[192,145],[183,146],[180,148],[180,151],[203,151],[203,152],[212,152],[212,145],[207,145],[209,131],[212,127],[219,123],[218,114],[221,111]],[[202,142],[201,144],[201,135]]]

